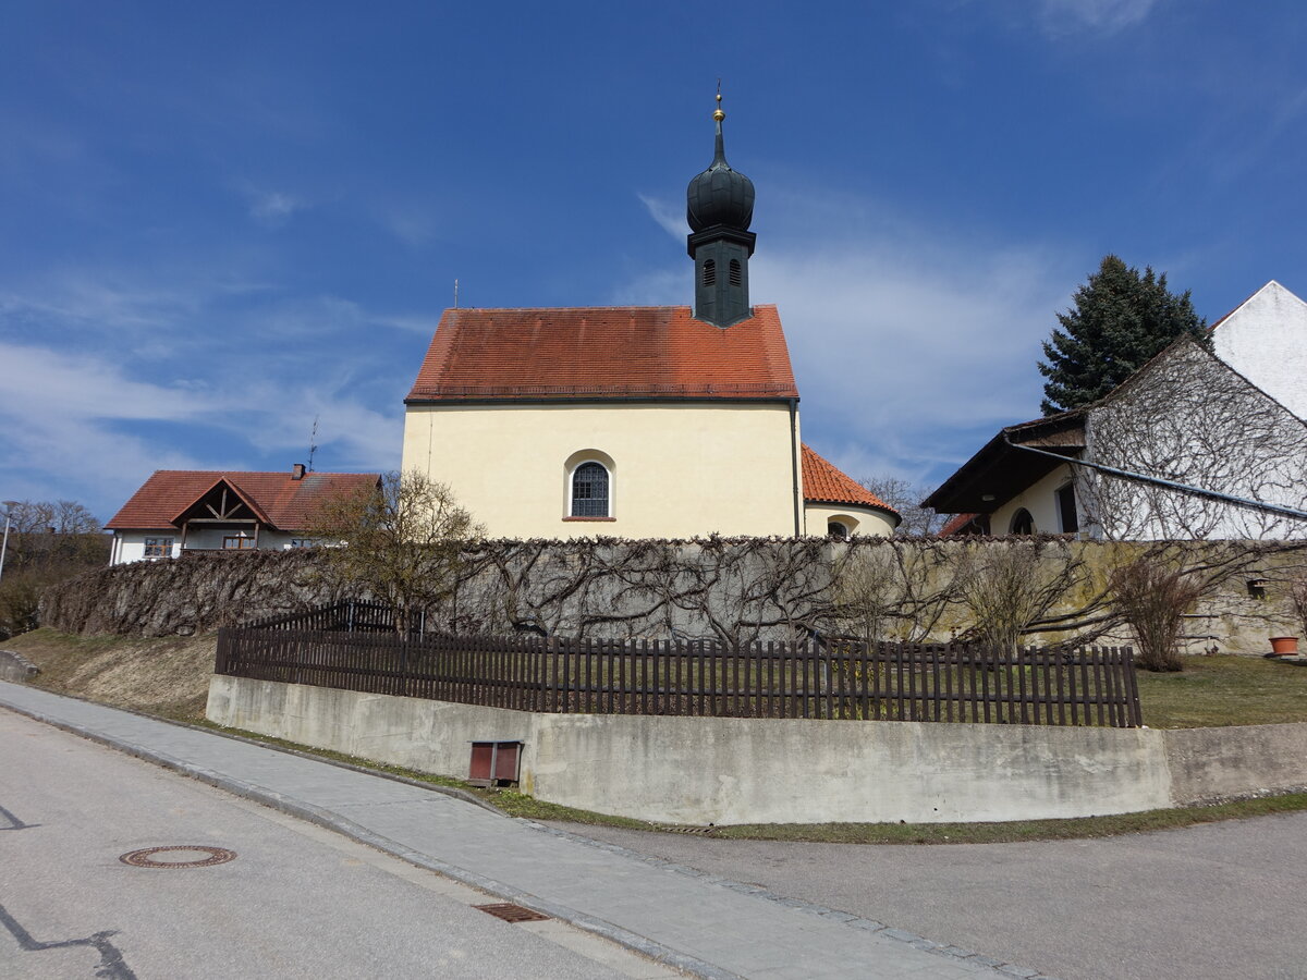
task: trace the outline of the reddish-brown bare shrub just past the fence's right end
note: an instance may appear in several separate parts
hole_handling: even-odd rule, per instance
[[[1179,643],[1184,614],[1204,592],[1201,578],[1142,555],[1112,571],[1112,595],[1138,644],[1145,670],[1183,670]]]

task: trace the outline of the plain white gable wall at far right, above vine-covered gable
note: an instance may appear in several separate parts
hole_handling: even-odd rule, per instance
[[[1307,303],[1268,282],[1212,332],[1217,357],[1307,418]]]

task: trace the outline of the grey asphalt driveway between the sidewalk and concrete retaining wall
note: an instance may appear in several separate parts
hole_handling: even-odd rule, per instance
[[[1064,980],[1307,977],[1307,814],[1038,844],[714,840],[557,825]]]

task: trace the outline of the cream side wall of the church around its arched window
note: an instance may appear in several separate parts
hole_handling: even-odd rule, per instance
[[[784,402],[412,405],[401,465],[494,537],[793,534],[797,447]],[[612,460],[613,519],[565,520],[591,449]]]

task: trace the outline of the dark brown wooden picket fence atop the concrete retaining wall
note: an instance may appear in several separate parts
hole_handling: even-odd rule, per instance
[[[1129,648],[403,639],[312,615],[319,629],[288,617],[220,630],[217,673],[518,711],[1140,724]]]

